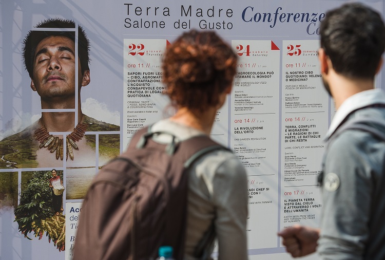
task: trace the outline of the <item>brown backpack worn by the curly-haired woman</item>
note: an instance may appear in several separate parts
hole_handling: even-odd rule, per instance
[[[80,214],[74,260],[155,259],[166,245],[174,248],[175,259],[183,258],[186,170],[202,155],[226,148],[206,135],[178,142],[170,134],[172,142],[160,144],[151,138],[157,134],[140,129],[127,151],[93,180]]]

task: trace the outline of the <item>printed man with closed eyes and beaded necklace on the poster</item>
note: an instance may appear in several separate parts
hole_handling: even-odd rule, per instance
[[[87,36],[79,26],[76,57],[75,31],[68,30],[75,28],[73,21],[54,18],[43,21],[36,27],[59,28],[57,31],[30,31],[24,40],[23,48],[31,88],[40,96],[42,109],[50,110],[43,112],[41,119],[22,132],[0,142],[3,156],[0,168],[62,166],[64,158],[69,159],[68,161],[78,158],[78,164],[81,163],[81,166],[94,165],[95,137],[91,135],[84,138],[85,132],[119,131],[120,127],[95,120],[82,113],[81,88],[90,82]],[[66,134],[65,138],[63,133]],[[118,155],[119,133],[113,137],[104,137],[107,138],[100,138],[100,143],[102,140],[104,143],[114,143],[113,149],[117,150]],[[107,139],[113,139],[113,142]]]

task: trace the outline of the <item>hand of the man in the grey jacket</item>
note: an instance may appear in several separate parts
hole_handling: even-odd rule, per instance
[[[282,244],[293,257],[314,253],[317,248],[319,229],[293,225],[278,232],[283,238]]]

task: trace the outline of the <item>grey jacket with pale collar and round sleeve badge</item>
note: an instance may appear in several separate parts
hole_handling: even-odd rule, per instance
[[[317,248],[322,259],[385,259],[385,142],[357,129],[333,138],[336,128],[350,120],[374,118],[385,123],[383,92],[363,92],[353,96],[349,106],[341,106],[345,115],[336,114],[328,135],[333,140],[323,161]],[[385,132],[384,127],[369,126]]]

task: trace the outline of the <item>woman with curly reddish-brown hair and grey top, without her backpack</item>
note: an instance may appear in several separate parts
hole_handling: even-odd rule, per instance
[[[167,48],[162,66],[176,113],[153,124],[152,131],[170,132],[179,140],[210,135],[232,90],[236,63],[237,55],[215,32],[182,34]],[[209,258],[210,237],[218,239],[218,259],[247,259],[247,180],[237,156],[217,150],[198,159],[189,170],[187,203],[185,259]]]

